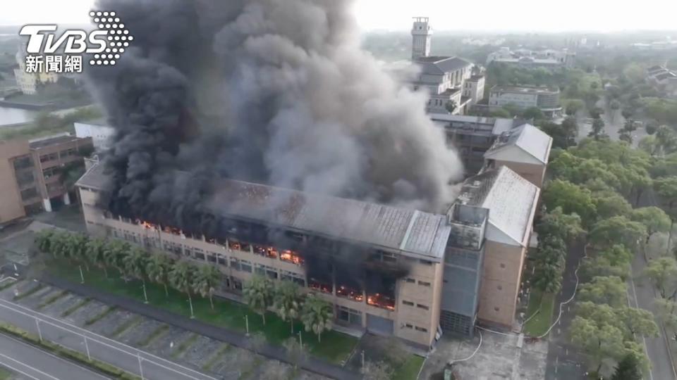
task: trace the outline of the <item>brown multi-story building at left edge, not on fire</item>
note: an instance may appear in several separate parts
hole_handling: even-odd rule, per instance
[[[82,155],[91,150],[92,139],[69,134],[0,141],[0,223],[51,211],[53,202],[70,204],[75,194],[69,194],[62,175],[84,167]]]

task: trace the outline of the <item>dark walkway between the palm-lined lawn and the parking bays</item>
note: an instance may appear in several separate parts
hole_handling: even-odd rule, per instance
[[[144,317],[156,319],[160,322],[180,327],[181,329],[193,331],[196,334],[208,336],[209,338],[214,338],[240,348],[249,349],[248,339],[245,338],[243,334],[228,331],[226,329],[222,329],[221,327],[216,327],[212,324],[200,322],[195,319],[183,317],[181,315],[176,315],[171,312],[166,312],[165,310],[145,305],[144,303],[138,302],[136,300],[116,296],[114,294],[102,293],[97,291],[97,289],[92,289],[81,284],[73,284],[70,281],[65,281],[49,274],[44,275],[41,281],[51,286],[56,286],[67,291],[71,291],[72,293],[79,294],[80,296],[99,300],[100,302],[106,303],[107,305],[114,305],[118,308],[129,310],[130,312],[134,312],[138,315],[143,315]],[[279,346],[267,345],[260,350],[260,354],[275,360],[279,360],[281,362],[289,363],[285,350]],[[355,372],[350,372],[347,369],[343,369],[336,365],[331,365],[328,362],[318,360],[314,357],[308,357],[307,359],[303,360],[303,362],[300,364],[300,367],[306,371],[315,372],[316,374],[331,377],[333,379],[360,379],[360,375],[356,374]]]

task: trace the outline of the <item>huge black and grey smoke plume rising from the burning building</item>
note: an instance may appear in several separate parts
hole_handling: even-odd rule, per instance
[[[450,201],[456,153],[425,95],[360,49],[351,4],[100,0],[134,37],[89,72],[117,131],[111,212],[219,235],[236,228],[207,207],[219,177],[420,210]]]

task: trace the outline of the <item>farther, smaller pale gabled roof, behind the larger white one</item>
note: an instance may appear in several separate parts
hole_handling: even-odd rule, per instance
[[[508,132],[503,132],[491,148],[484,153],[484,158],[492,158],[497,153],[509,148],[519,148],[525,153],[547,164],[552,146],[552,137],[530,124],[521,125]]]

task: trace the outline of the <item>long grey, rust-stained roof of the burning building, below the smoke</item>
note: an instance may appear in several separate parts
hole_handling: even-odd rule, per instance
[[[102,190],[105,182],[104,167],[99,164],[90,168],[77,185]],[[218,193],[208,203],[216,215],[365,243],[420,258],[444,258],[451,232],[445,215],[234,179],[219,179],[216,189]]]

